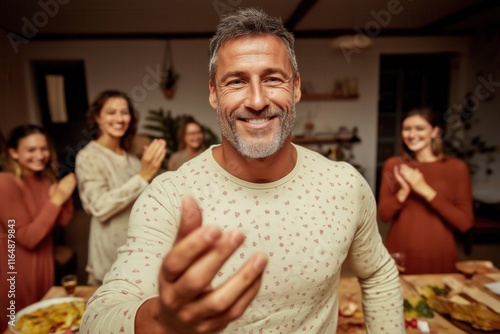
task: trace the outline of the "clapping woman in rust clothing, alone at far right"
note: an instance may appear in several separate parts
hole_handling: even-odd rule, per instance
[[[454,232],[473,223],[467,164],[443,154],[436,115],[414,109],[403,119],[402,155],[382,171],[378,213],[392,221],[386,246],[404,253],[405,273],[454,272]]]

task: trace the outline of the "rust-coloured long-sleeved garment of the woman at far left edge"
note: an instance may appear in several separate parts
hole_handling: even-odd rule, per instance
[[[53,204],[50,185],[39,177],[25,177],[21,183],[0,173],[0,331],[7,327],[10,305],[19,311],[54,285],[51,232],[56,224],[69,224],[73,202]]]

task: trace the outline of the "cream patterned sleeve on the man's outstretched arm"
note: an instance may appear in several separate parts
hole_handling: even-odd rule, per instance
[[[175,239],[178,220],[168,208],[180,208],[180,203],[160,199],[161,193],[153,182],[134,204],[127,242],[118,249],[104,284],[89,300],[80,333],[108,334],[117,329],[133,333],[137,310],[158,295],[159,270]]]

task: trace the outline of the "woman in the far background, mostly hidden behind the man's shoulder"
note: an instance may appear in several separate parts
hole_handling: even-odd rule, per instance
[[[168,170],[177,170],[183,163],[205,150],[203,128],[193,117],[186,116],[177,134],[179,147],[168,160]]]

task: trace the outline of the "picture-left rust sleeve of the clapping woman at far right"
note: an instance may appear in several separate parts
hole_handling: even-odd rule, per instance
[[[390,158],[382,168],[377,212],[380,220],[385,223],[393,220],[404,206],[396,197],[400,186],[394,176],[394,166],[400,163],[401,161],[398,158]]]

